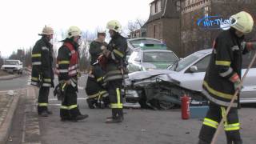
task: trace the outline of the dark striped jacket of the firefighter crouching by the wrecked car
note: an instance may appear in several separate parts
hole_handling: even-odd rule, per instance
[[[104,88],[106,86],[106,82],[103,81],[104,74],[105,73],[100,66],[94,66],[86,83],[86,94],[89,98],[102,98],[108,96],[108,93]]]

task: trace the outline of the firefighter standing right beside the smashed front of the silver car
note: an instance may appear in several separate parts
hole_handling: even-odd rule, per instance
[[[106,123],[122,122],[122,81],[126,77],[125,61],[126,61],[126,38],[123,38],[119,31],[121,25],[118,21],[112,20],[106,26],[110,33],[110,43],[106,50],[103,50],[104,57],[106,58],[106,74],[104,81],[106,82],[106,89],[110,97],[110,106],[112,109],[112,116],[106,118]],[[102,62],[102,60],[99,60]],[[104,62],[103,62],[104,63]]]

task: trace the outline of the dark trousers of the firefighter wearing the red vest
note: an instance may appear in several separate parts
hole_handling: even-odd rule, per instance
[[[78,110],[77,89],[69,85],[66,87],[66,94],[60,107],[60,117],[63,119],[75,118],[80,115]]]

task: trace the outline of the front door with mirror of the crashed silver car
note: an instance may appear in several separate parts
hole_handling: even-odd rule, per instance
[[[209,62],[210,54],[207,54],[204,58],[186,68],[184,73],[180,74],[178,78],[181,82],[180,85],[190,90],[202,91],[202,81]],[[198,70],[191,71],[192,66],[197,67]]]

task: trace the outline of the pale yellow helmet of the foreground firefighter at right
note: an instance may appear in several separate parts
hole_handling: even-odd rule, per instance
[[[231,24],[231,27],[234,27],[235,30],[239,30],[242,33],[250,33],[254,27],[254,19],[249,13],[241,11],[238,14],[234,14],[230,17],[234,19],[234,24]]]

